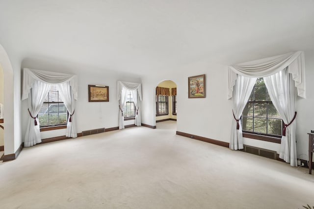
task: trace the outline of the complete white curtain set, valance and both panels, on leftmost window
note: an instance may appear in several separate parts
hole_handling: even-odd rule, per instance
[[[70,114],[66,136],[76,138],[76,121],[74,100],[78,98],[78,82],[76,75],[59,72],[23,69],[22,100],[28,98],[28,123],[24,146],[32,146],[41,142],[37,115],[51,84],[57,84],[60,96]]]

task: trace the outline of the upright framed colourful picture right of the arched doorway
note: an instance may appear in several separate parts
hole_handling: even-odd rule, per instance
[[[188,77],[188,97],[205,98],[205,74]]]

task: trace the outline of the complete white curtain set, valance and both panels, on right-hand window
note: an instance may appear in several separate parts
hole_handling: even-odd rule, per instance
[[[269,95],[280,116],[283,118],[286,127],[286,136],[282,137],[280,158],[284,159],[291,166],[296,166],[296,149],[295,149],[295,97],[297,95],[306,98],[305,90],[305,60],[304,52],[297,51],[274,57],[269,57],[261,60],[246,62],[242,64],[228,66],[228,99],[233,95],[233,111],[235,120],[232,124],[231,149],[241,149],[241,144],[238,140],[238,135],[235,134],[235,124],[239,120],[240,115],[238,110],[242,104],[236,104],[238,100],[237,93],[243,92],[249,94],[247,89],[249,86],[237,85],[243,83],[241,80],[236,82],[240,76],[248,78],[263,77]],[[288,80],[291,79],[291,80]],[[243,83],[244,84],[244,83]],[[254,86],[254,85],[253,85]],[[297,91],[294,90],[296,88]],[[251,90],[252,91],[252,90]],[[242,96],[245,103],[248,99]],[[284,103],[279,101],[282,99]],[[242,110],[243,111],[243,110]],[[238,132],[242,132],[242,127],[239,127]],[[241,137],[240,137],[241,138]]]

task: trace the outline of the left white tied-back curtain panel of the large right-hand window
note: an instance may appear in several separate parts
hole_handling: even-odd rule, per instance
[[[257,78],[249,78],[242,75],[237,75],[235,90],[233,92],[234,119],[232,121],[231,127],[231,140],[229,144],[230,149],[243,149],[242,125],[240,117],[247,101],[249,100],[250,94],[252,93],[256,79]]]

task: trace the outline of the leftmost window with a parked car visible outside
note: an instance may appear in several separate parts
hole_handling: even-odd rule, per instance
[[[39,110],[38,119],[40,127],[67,124],[68,111],[60,98],[56,85],[51,86]]]

